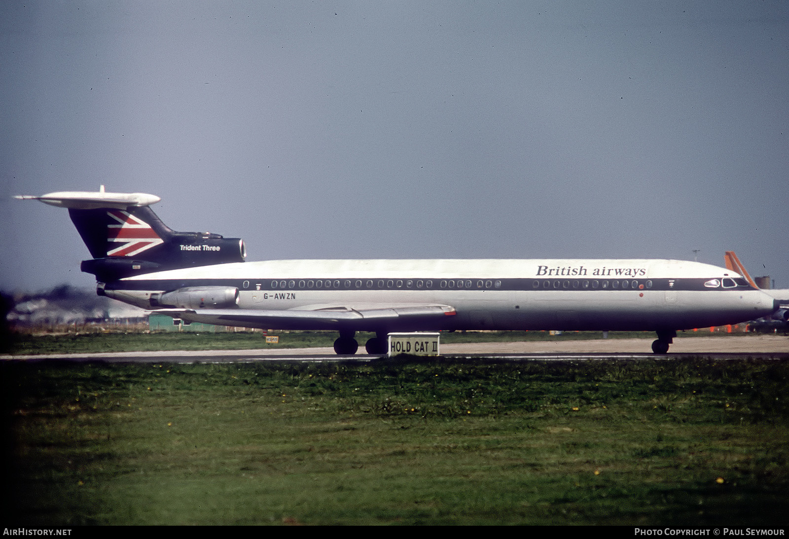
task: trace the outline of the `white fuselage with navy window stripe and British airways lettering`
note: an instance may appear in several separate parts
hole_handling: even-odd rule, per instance
[[[151,295],[198,286],[237,288],[234,308],[241,311],[443,305],[456,312],[439,322],[387,330],[691,329],[743,322],[775,308],[772,297],[729,269],[650,259],[243,262],[129,277],[107,283],[104,293],[151,308]],[[217,323],[206,314],[196,309],[185,318]],[[305,319],[239,325],[308,329]],[[360,322],[351,329],[382,328]]]

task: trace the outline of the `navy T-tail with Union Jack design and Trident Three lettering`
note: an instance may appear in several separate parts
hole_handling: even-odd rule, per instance
[[[211,232],[177,232],[149,207],[159,197],[145,193],[60,191],[42,196],[18,195],[69,209],[69,216],[92,260],[80,269],[97,281],[114,281],[164,269],[244,262],[240,238]]]

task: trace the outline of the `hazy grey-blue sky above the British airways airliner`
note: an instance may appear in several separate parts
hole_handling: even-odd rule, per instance
[[[0,288],[142,191],[267,258],[686,258],[789,287],[786,2],[3,2]]]

